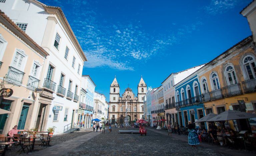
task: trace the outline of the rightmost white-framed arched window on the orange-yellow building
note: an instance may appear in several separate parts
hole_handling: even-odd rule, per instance
[[[244,69],[248,79],[256,78],[256,65],[255,59],[251,55],[243,59]]]

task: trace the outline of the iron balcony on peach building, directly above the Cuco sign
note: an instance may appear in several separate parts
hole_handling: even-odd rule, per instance
[[[25,73],[17,70],[16,68],[9,67],[8,73],[6,74],[6,80],[10,82],[20,83],[19,85],[21,85],[24,74]]]

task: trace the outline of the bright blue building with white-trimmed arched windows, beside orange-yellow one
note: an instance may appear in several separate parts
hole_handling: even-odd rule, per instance
[[[194,123],[205,116],[200,83],[196,72],[174,85],[174,87],[180,127],[187,127],[189,123]],[[206,123],[196,123],[195,125],[196,128],[205,128]]]

